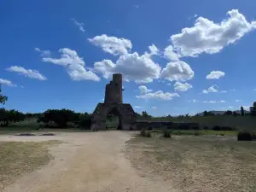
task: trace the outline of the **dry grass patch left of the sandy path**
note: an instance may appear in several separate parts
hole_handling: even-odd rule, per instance
[[[48,148],[57,143],[0,142],[0,191],[23,174],[46,165],[52,159]]]

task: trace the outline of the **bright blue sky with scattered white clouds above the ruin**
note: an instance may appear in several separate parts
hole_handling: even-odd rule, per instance
[[[235,110],[256,97],[256,3],[248,0],[4,1],[6,108],[92,112],[112,73],[153,115]]]

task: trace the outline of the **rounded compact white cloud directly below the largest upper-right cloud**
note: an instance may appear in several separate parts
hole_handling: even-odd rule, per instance
[[[169,81],[184,81],[194,77],[193,70],[183,61],[169,62],[162,70],[160,77]]]

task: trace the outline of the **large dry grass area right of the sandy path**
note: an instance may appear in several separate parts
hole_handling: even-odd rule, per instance
[[[160,176],[188,192],[255,192],[256,142],[235,137],[136,137],[127,145],[142,175]]]

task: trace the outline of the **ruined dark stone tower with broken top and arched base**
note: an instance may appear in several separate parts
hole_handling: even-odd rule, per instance
[[[98,103],[92,113],[91,130],[106,130],[106,120],[109,113],[119,116],[120,130],[136,129],[136,113],[131,104],[123,103],[122,74],[113,74],[113,79],[106,84],[104,103]]]

